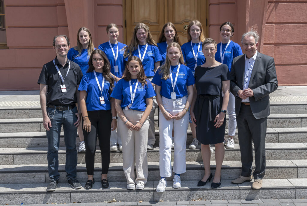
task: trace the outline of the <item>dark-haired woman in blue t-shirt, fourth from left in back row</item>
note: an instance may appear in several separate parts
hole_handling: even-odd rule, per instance
[[[176,42],[179,45],[181,45],[179,36],[177,34],[177,30],[175,28],[175,25],[173,25],[173,23],[171,23],[171,22],[167,22],[163,26],[163,28],[160,32],[159,40],[158,40],[158,43],[157,43],[158,48],[159,48],[159,52],[160,52],[161,57],[162,57],[162,61],[160,62],[161,65],[165,63],[166,48],[172,42]]]

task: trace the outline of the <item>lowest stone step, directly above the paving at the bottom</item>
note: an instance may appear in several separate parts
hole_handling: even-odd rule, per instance
[[[46,192],[48,183],[0,184],[0,204],[110,202],[115,199],[121,202],[164,201],[171,205],[171,201],[204,200],[198,202],[204,205],[210,203],[208,200],[221,199],[300,199],[307,193],[307,179],[264,179],[261,190],[251,189],[252,182],[236,185],[230,180],[222,180],[216,189],[211,189],[211,184],[197,187],[197,180],[182,180],[181,188],[173,189],[173,181],[167,181],[163,193],[155,191],[158,181],[148,181],[142,190],[127,190],[126,182],[113,181],[109,182],[109,188],[102,189],[100,179],[96,181],[90,190],[75,190],[66,181],[60,181],[54,192]],[[84,186],[85,182],[81,184]]]

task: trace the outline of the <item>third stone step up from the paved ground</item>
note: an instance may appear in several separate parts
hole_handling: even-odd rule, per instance
[[[214,148],[214,147],[213,147]],[[173,155],[172,150],[172,155]],[[306,159],[307,143],[267,143],[266,159],[267,160],[286,160],[286,159]],[[27,148],[2,148],[0,152],[1,165],[22,165],[22,164],[46,164],[47,147],[27,147]],[[157,145],[154,149],[147,152],[148,162],[159,162],[159,148]],[[65,147],[59,148],[59,163],[64,164],[66,159]],[[215,156],[211,155],[211,160],[215,161]],[[225,161],[240,161],[239,144],[235,144],[232,150],[225,149]],[[186,162],[202,161],[200,145],[195,150],[186,148]],[[101,163],[101,153],[97,147],[95,162]],[[122,152],[111,152],[111,162],[121,163]],[[85,153],[78,153],[78,163],[85,163]]]

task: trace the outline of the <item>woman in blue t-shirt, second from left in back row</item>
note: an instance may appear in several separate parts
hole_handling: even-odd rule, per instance
[[[119,37],[119,28],[116,24],[107,25],[107,36],[109,37],[109,41],[100,44],[98,48],[107,55],[111,64],[111,75],[115,78],[115,81],[118,82],[120,78],[122,78],[122,74],[125,70],[123,48],[127,45],[117,40]],[[114,152],[118,149],[122,151],[122,140],[119,134],[120,132],[118,129],[117,131],[111,132],[110,151]]]

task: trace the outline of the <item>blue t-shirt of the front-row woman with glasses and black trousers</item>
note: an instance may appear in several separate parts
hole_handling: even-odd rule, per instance
[[[96,72],[98,82],[100,86],[102,85],[102,73]],[[104,104],[100,104],[101,92],[99,90],[99,87],[97,85],[97,81],[94,75],[94,72],[89,72],[83,75],[79,88],[79,91],[86,91],[86,107],[87,111],[97,111],[97,110],[110,110],[111,109],[111,103],[110,103],[110,94],[109,94],[109,87],[110,82],[107,82],[104,80],[104,86],[102,95],[104,97]]]

